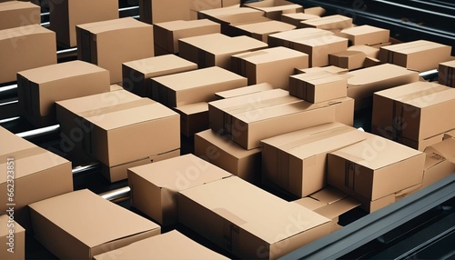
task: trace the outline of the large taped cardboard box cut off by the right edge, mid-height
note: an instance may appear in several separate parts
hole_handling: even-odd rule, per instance
[[[455,128],[455,89],[415,82],[376,92],[371,125],[393,129],[399,137],[419,142]]]

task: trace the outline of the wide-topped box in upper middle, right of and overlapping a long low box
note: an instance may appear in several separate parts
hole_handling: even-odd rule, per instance
[[[230,69],[232,55],[264,49],[267,46],[266,43],[245,35],[199,35],[178,40],[178,55],[197,63],[199,68],[219,66]]]

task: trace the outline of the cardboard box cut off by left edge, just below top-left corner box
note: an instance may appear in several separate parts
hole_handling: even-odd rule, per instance
[[[41,25],[0,30],[0,83],[19,71],[56,64],[56,33]]]

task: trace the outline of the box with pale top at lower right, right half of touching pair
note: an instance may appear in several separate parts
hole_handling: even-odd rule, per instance
[[[423,177],[422,152],[377,135],[328,156],[328,184],[354,198],[375,201],[420,185]]]

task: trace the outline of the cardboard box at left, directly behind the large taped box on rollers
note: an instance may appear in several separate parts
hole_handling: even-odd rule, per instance
[[[56,101],[109,91],[109,71],[83,61],[17,73],[20,114],[35,127],[56,124]]]

